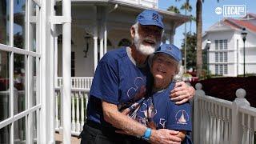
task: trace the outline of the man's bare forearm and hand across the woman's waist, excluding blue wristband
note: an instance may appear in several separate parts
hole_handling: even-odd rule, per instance
[[[126,134],[142,137],[147,127],[118,111],[118,107],[108,102],[102,102],[103,117],[114,127],[121,129]],[[152,130],[150,142],[152,143],[180,143],[181,138],[177,137],[178,131],[174,130]]]

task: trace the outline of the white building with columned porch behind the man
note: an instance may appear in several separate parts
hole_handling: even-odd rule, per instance
[[[72,77],[94,76],[98,60],[106,51],[129,46],[130,26],[136,16],[148,8],[162,14],[165,25],[163,42],[173,43],[175,29],[188,21],[188,17],[159,10],[158,0],[72,0]],[[61,33],[60,29],[58,34]],[[62,77],[62,44],[58,46],[58,77]]]

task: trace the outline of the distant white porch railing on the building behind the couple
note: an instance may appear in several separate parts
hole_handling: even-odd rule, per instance
[[[72,77],[71,78],[71,89],[84,89],[90,90],[91,83],[93,82],[93,77]],[[62,77],[57,78],[56,88],[62,86]]]

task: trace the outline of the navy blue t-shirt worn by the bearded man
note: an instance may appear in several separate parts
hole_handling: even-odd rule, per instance
[[[148,66],[139,68],[130,60],[126,47],[106,53],[98,63],[90,88],[86,115],[90,121],[104,122],[102,101],[120,107],[133,103],[150,86]]]

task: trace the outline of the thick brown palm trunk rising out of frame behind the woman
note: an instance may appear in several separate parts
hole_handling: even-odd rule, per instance
[[[202,74],[202,0],[197,1],[197,77]]]

